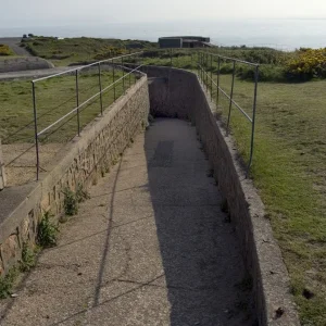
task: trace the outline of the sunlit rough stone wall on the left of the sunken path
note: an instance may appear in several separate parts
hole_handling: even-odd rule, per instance
[[[24,242],[35,242],[45,211],[57,217],[63,213],[65,187],[74,190],[78,183],[88,187],[108,171],[147,126],[148,113],[148,80],[142,77],[58,154],[51,172],[42,173],[38,183],[0,192],[0,275],[21,258]]]

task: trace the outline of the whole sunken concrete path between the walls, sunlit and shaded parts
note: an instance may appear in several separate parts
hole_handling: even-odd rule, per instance
[[[233,227],[197,141],[156,120],[45,250],[1,325],[253,325]]]

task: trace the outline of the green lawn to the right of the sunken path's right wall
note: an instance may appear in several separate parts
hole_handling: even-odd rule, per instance
[[[230,91],[229,75],[221,77]],[[266,205],[302,325],[326,325],[326,82],[260,83],[254,184]],[[235,100],[252,113],[253,84],[236,80]],[[216,91],[213,90],[215,98]],[[221,96],[225,121],[229,102]],[[249,158],[250,123],[233,106],[231,133]],[[304,296],[306,291],[313,296]]]

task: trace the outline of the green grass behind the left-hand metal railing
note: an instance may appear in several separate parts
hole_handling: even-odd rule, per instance
[[[115,80],[122,72],[115,72]],[[112,72],[102,71],[102,88],[113,83]],[[129,84],[130,82],[130,84]],[[125,89],[135,83],[135,76],[125,79]],[[3,143],[33,142],[34,114],[30,82],[2,82],[0,138]],[[99,92],[99,79],[96,73],[79,74],[79,104]],[[116,99],[123,95],[123,83],[116,85]],[[38,131],[54,123],[58,118],[76,108],[75,76],[55,77],[36,84],[36,105]],[[103,109],[114,101],[113,89],[103,93]],[[80,110],[83,128],[100,114],[100,98],[97,97]],[[59,128],[59,129],[58,129]],[[58,129],[58,130],[57,130]],[[57,130],[57,131],[55,131]],[[52,134],[53,133],[53,134]],[[76,114],[71,115],[58,126],[40,137],[41,142],[65,142],[77,134]],[[12,135],[12,136],[11,136]]]

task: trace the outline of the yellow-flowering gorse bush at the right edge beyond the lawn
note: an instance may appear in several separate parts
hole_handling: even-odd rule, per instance
[[[326,77],[326,48],[301,49],[287,62],[286,72],[300,79]]]

